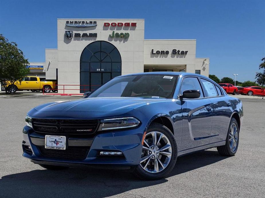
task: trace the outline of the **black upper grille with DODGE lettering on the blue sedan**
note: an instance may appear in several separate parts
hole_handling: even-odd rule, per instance
[[[98,120],[32,119],[36,132],[48,134],[93,134],[98,123]]]

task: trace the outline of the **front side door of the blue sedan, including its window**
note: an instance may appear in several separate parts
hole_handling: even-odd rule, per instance
[[[211,101],[205,98],[199,78],[197,76],[184,77],[180,93],[182,94],[185,90],[199,90],[201,97],[181,100],[182,142],[180,151],[208,144],[212,126]]]

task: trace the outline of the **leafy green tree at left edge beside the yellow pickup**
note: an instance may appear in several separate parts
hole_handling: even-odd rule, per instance
[[[17,44],[0,35],[0,83],[5,87],[6,93],[9,86],[28,75],[30,70],[27,65],[28,59],[25,59]]]

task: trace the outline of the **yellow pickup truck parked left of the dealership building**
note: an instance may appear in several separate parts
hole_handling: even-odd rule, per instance
[[[7,89],[11,93],[15,93],[17,90],[32,90],[32,91],[44,91],[49,93],[51,90],[56,91],[57,89],[56,80],[40,80],[37,76],[28,76],[23,78],[21,82],[16,81],[14,85],[9,85]]]

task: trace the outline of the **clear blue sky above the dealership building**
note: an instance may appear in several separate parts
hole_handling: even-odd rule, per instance
[[[145,39],[197,39],[219,78],[255,80],[265,56],[265,1],[0,1],[0,32],[30,62],[57,48],[57,18],[145,19]]]

